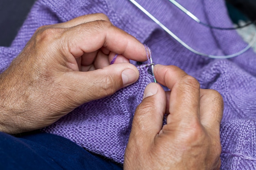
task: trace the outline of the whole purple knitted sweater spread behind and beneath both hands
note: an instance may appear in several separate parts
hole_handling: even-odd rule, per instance
[[[204,27],[168,0],[137,2],[200,52],[228,55],[247,45],[236,31]],[[220,27],[232,26],[223,0],[178,2],[203,22]],[[219,91],[225,102],[220,129],[221,169],[256,169],[256,54],[249,49],[231,59],[210,59],[191,53],[129,0],[38,0],[12,45],[0,47],[0,71],[9,66],[39,26],[65,22],[89,13],[105,13],[115,26],[146,43],[155,63],[179,66],[197,78],[201,88]],[[84,104],[43,130],[122,163],[133,113],[150,82],[145,70],[141,69],[140,73],[135,84],[110,97]]]

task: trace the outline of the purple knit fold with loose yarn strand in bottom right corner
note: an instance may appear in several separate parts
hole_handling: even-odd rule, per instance
[[[256,169],[256,121],[233,120],[221,124],[222,170]]]

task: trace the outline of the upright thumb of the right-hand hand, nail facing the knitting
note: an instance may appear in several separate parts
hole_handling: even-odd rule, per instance
[[[162,129],[166,110],[164,89],[157,83],[150,83],[144,91],[144,99],[135,111],[130,140],[150,142]],[[145,144],[144,143],[144,144]]]

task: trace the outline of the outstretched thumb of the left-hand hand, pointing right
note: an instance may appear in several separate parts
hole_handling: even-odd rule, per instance
[[[73,102],[81,105],[112,95],[120,88],[136,82],[138,78],[139,71],[134,65],[117,63],[94,71],[66,72],[61,82],[67,88],[65,93],[68,97],[72,96]]]

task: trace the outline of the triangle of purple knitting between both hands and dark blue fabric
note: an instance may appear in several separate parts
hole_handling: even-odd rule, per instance
[[[146,69],[139,69],[140,78],[132,86],[84,104],[43,131],[61,135],[87,150],[123,163],[133,114],[142,100],[141,92],[150,83]]]

